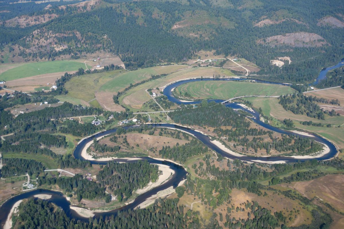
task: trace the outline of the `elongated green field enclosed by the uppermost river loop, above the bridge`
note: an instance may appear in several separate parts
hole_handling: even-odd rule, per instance
[[[282,95],[295,92],[294,89],[265,83],[237,81],[198,81],[183,84],[178,92],[191,94],[196,99],[229,99],[242,95]]]

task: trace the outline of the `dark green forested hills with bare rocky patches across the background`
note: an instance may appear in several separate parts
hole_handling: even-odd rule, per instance
[[[107,50],[137,68],[215,50],[254,62],[263,78],[304,82],[344,56],[341,0],[90,0],[26,13],[1,4],[2,54],[27,61]],[[271,65],[278,57],[292,62]]]

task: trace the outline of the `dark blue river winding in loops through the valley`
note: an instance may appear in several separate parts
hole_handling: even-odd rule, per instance
[[[338,68],[338,67],[344,66],[343,60],[344,59],[342,59],[335,66],[323,69],[320,72],[319,77],[317,78],[315,83],[318,83],[321,79],[325,78],[327,71],[329,71],[331,69],[334,69],[334,68]],[[247,80],[247,79],[218,79],[218,80]],[[164,89],[164,94],[166,96],[168,96],[168,99],[170,101],[172,101],[174,103],[177,103],[177,104],[197,104],[197,103],[200,103],[201,101],[182,102],[179,99],[173,97],[173,95],[171,93],[171,90],[173,88],[175,88],[175,87],[178,87],[181,84],[185,84],[185,83],[189,83],[189,82],[194,82],[194,81],[201,81],[201,80],[207,81],[207,80],[213,80],[213,79],[192,79],[192,80],[184,80],[184,81],[176,82],[176,83],[168,85]],[[258,82],[258,83],[273,83],[273,84],[280,84],[280,85],[288,85],[288,84],[284,84],[284,83],[275,83],[275,82],[269,82],[269,81],[264,81],[264,80],[257,80],[257,79],[254,79],[254,80],[256,82]],[[219,102],[223,102],[224,100],[209,100],[209,101],[215,101],[215,102],[219,103]],[[229,104],[225,104],[225,105],[227,107],[230,107],[230,108],[241,109],[241,110],[244,110],[244,111],[250,113],[253,116],[253,118],[251,118],[253,122],[255,122],[258,125],[261,125],[262,127],[265,127],[265,128],[267,128],[269,130],[276,131],[277,133],[281,133],[281,134],[288,134],[288,135],[295,135],[295,136],[306,137],[306,136],[303,136],[303,135],[300,135],[300,134],[297,134],[297,133],[293,133],[291,131],[282,130],[282,129],[273,127],[273,126],[271,126],[269,124],[266,124],[266,123],[260,121],[259,113],[257,111],[247,110],[246,108],[240,106],[237,103],[229,103]],[[313,158],[296,159],[296,158],[287,157],[287,156],[274,156],[274,157],[251,157],[251,156],[244,156],[244,155],[240,155],[239,156],[237,154],[227,153],[226,151],[220,149],[218,146],[216,146],[215,144],[213,144],[211,142],[211,139],[208,136],[206,136],[205,134],[203,134],[201,132],[195,131],[193,129],[190,129],[190,128],[187,128],[187,127],[183,127],[183,126],[180,126],[180,125],[175,125],[175,124],[149,124],[149,125],[152,125],[153,127],[167,127],[167,128],[175,128],[175,129],[178,129],[178,130],[186,131],[187,133],[192,134],[193,136],[195,136],[198,140],[202,141],[210,149],[212,149],[212,150],[216,151],[217,153],[221,154],[223,157],[227,157],[227,158],[230,158],[230,159],[239,159],[239,160],[244,160],[244,161],[248,161],[248,162],[259,161],[261,163],[274,163],[274,162],[277,163],[277,162],[280,162],[280,161],[284,161],[284,162],[297,162],[297,161],[306,161],[306,160],[313,159]],[[127,126],[125,128],[130,128],[130,126]],[[85,160],[81,156],[82,149],[85,147],[85,145],[88,142],[93,141],[94,138],[98,138],[98,137],[101,137],[101,136],[104,136],[104,135],[115,133],[116,129],[117,128],[110,129],[110,130],[105,130],[103,132],[97,133],[97,134],[95,134],[93,136],[90,136],[90,137],[85,138],[82,141],[80,141],[79,144],[76,146],[76,148],[74,150],[75,158],[79,158],[81,160]],[[324,155],[321,155],[320,157],[317,157],[316,158],[317,160],[331,159],[331,158],[333,158],[336,155],[337,149],[334,146],[334,144],[332,142],[330,142],[329,140],[327,140],[325,138],[322,138],[320,136],[317,136],[317,135],[307,136],[307,138],[311,138],[313,140],[319,141],[319,142],[325,144],[329,148],[329,152],[324,154]],[[108,212],[95,212],[95,217],[97,217],[97,218],[99,218],[99,217],[108,217],[108,216],[111,216],[111,215],[116,215],[119,210],[127,210],[127,209],[135,208],[140,203],[144,202],[147,198],[151,197],[152,195],[157,194],[157,192],[165,190],[166,188],[168,188],[170,186],[173,186],[175,188],[176,186],[178,186],[178,184],[182,180],[184,180],[186,178],[186,174],[187,173],[186,173],[185,169],[183,167],[181,167],[180,165],[175,164],[173,162],[165,161],[165,160],[163,160],[163,161],[156,160],[156,159],[152,159],[152,158],[149,158],[149,157],[141,157],[141,158],[138,158],[138,159],[146,159],[150,163],[168,165],[172,170],[174,170],[175,173],[172,175],[172,177],[169,179],[169,181],[167,181],[166,183],[163,183],[162,185],[160,185],[158,187],[155,187],[155,188],[149,190],[146,193],[143,193],[143,194],[137,196],[135,198],[135,200],[133,202],[131,202],[130,204],[125,205],[123,207],[120,207],[118,209],[114,209],[114,210],[108,211]],[[128,163],[132,162],[132,161],[127,161],[125,159],[117,159],[117,160],[112,160],[112,161],[122,161],[122,162],[128,162]],[[91,161],[91,163],[92,164],[106,164],[107,161]],[[63,196],[63,194],[61,192],[56,192],[56,191],[51,191],[51,190],[44,190],[44,189],[36,189],[36,190],[33,190],[33,191],[24,192],[22,194],[14,196],[14,197],[10,198],[8,201],[6,201],[4,204],[1,205],[1,207],[0,207],[0,213],[1,213],[0,214],[0,227],[3,228],[3,226],[4,226],[5,222],[6,222],[7,216],[9,214],[12,206],[16,202],[18,202],[18,201],[20,201],[20,200],[22,200],[24,198],[33,197],[34,195],[37,195],[37,194],[48,194],[48,195],[51,195],[52,197],[48,201],[56,204],[57,206],[60,206],[65,211],[67,216],[73,217],[73,218],[75,218],[77,220],[88,221],[88,218],[81,217],[74,210],[70,209],[70,203],[67,201],[67,199]]]

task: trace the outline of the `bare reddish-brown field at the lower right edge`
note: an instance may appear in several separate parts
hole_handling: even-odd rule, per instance
[[[344,213],[344,175],[342,174],[329,174],[311,181],[292,182],[291,187],[309,199],[318,197]]]

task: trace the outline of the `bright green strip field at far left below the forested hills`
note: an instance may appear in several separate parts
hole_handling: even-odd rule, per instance
[[[67,60],[33,62],[3,72],[0,80],[9,81],[47,73],[77,71],[79,68],[85,69],[85,64]]]

